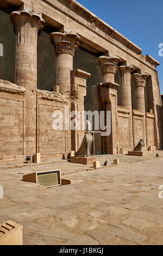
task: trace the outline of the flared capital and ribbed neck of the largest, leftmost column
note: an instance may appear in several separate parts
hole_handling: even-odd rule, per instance
[[[10,16],[17,35],[17,44],[28,44],[36,46],[37,32],[43,28],[45,21],[42,17],[32,11],[13,11]]]

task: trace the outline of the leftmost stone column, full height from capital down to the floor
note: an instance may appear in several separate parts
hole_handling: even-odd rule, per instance
[[[36,153],[37,32],[45,23],[28,10],[13,11],[11,22],[17,35],[15,82],[26,87],[24,100],[24,152]]]

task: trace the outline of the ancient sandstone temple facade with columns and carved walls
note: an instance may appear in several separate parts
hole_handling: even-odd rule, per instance
[[[54,111],[111,111],[95,154],[163,148],[154,58],[74,0],[3,0],[0,18],[0,164],[77,152],[84,130],[53,129]]]

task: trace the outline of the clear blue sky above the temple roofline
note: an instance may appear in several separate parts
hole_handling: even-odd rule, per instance
[[[158,74],[163,94],[163,56],[159,44],[163,44],[162,0],[78,0],[111,27],[141,47],[143,55],[151,55],[160,62]],[[163,52],[163,51],[162,51]]]

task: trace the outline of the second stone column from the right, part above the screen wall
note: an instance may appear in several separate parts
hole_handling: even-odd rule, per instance
[[[122,97],[122,106],[129,110],[132,110],[132,100],[131,100],[131,72],[134,71],[133,66],[120,66],[121,73],[121,97]]]

